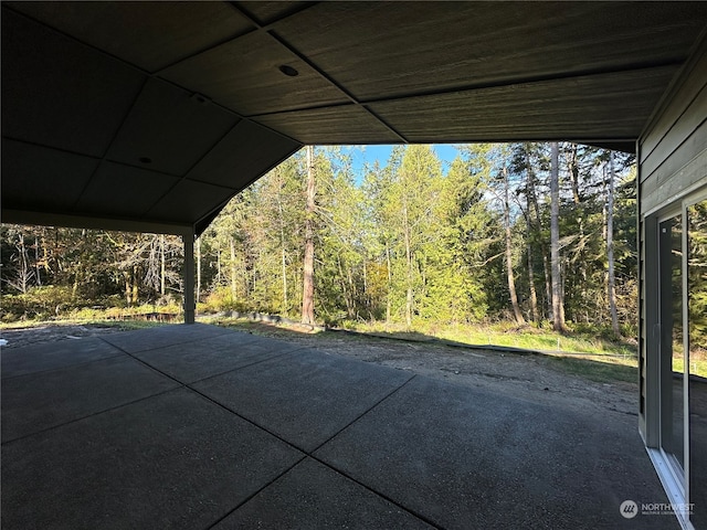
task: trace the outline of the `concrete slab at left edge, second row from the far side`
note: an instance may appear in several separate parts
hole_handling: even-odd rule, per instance
[[[2,381],[2,442],[179,385],[127,356],[6,379]]]

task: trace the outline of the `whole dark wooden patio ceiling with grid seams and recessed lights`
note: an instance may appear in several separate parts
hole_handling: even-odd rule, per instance
[[[2,220],[201,232],[303,145],[633,150],[707,2],[3,2]]]

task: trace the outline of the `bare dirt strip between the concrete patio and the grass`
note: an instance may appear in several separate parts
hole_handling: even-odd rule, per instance
[[[120,325],[46,325],[2,329],[0,337],[8,341],[2,348],[14,349],[56,340],[80,340],[125,329]],[[345,332],[307,333],[260,324],[242,330],[534,402],[557,404],[562,400],[562,404],[570,409],[637,415],[636,384],[600,383],[568,374],[556,368],[557,361],[540,354],[456,348]]]

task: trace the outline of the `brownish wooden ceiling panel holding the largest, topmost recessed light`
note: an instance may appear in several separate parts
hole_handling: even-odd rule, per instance
[[[291,77],[286,65],[297,71]],[[160,76],[242,116],[346,102],[346,96],[265,33],[251,33],[179,63]]]

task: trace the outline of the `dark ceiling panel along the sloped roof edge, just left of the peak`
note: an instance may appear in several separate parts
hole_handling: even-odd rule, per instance
[[[284,136],[243,120],[187,177],[240,191],[299,147]]]

